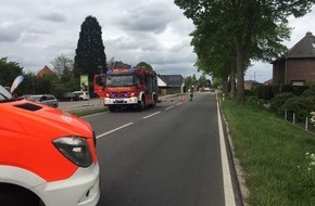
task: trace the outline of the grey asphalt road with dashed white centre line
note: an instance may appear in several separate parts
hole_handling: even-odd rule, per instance
[[[98,138],[99,206],[242,205],[236,176],[224,162],[214,93],[85,119]]]

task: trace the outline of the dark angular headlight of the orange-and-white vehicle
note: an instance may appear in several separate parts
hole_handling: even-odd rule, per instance
[[[67,159],[79,167],[89,167],[93,162],[85,138],[64,137],[53,140],[52,143]]]

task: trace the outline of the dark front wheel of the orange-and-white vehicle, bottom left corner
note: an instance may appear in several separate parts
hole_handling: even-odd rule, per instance
[[[2,190],[3,189],[3,190]],[[1,206],[41,206],[41,201],[32,192],[14,185],[0,185],[0,205]]]

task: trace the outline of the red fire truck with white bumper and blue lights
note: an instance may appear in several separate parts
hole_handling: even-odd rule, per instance
[[[141,67],[109,69],[94,76],[94,92],[111,112],[118,107],[154,107],[159,98],[156,73]]]

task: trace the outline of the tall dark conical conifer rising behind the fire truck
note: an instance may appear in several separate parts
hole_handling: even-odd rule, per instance
[[[100,67],[106,72],[106,55],[102,41],[102,30],[93,16],[87,16],[81,24],[79,39],[74,59],[74,75],[88,75],[92,81],[93,75],[100,73]]]

